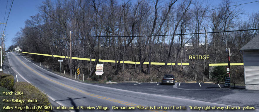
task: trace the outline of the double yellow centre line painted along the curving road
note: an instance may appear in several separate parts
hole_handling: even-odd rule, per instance
[[[16,57],[16,58],[17,58],[25,67],[27,67],[28,69],[30,69],[30,70],[33,71],[34,73],[40,75],[41,77],[43,77],[43,78],[45,78],[45,79],[47,79],[47,80],[50,80],[50,81],[52,81],[52,82],[54,82],[54,83],[57,83],[57,84],[59,84],[59,85],[65,86],[65,87],[67,87],[67,88],[70,88],[70,89],[72,89],[72,90],[76,90],[76,91],[78,91],[78,92],[84,93],[85,95],[89,95],[89,96],[96,97],[96,98],[100,98],[100,99],[109,100],[109,101],[112,101],[112,102],[117,102],[117,103],[120,103],[120,104],[125,104],[125,105],[129,105],[129,106],[134,106],[134,107],[142,106],[142,105],[138,105],[138,104],[132,104],[132,103],[120,101],[120,100],[117,100],[117,99],[112,99],[112,98],[108,98],[108,97],[103,97],[103,96],[99,96],[99,95],[87,93],[87,92],[85,92],[85,91],[82,91],[82,90],[73,88],[73,87],[68,86],[68,85],[66,85],[66,84],[59,83],[59,82],[57,82],[57,81],[54,81],[54,80],[52,80],[52,79],[49,79],[49,78],[43,76],[42,74],[36,72],[35,70],[33,70],[32,68],[30,68],[29,66],[25,65],[25,63],[23,63],[18,57]],[[146,107],[146,106],[143,106],[143,107]],[[148,109],[148,110],[150,110],[150,111],[155,111],[156,109],[154,109],[154,110]],[[163,111],[163,110],[158,110],[158,111],[155,111],[155,112],[159,112],[159,111]],[[167,111],[163,111],[163,112],[167,112]]]

